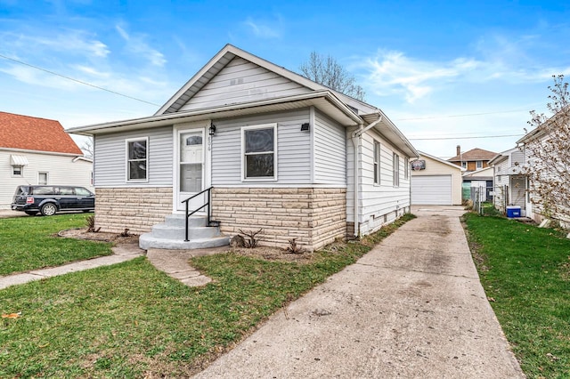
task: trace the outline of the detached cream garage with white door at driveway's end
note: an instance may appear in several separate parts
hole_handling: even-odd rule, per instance
[[[419,151],[419,159],[411,162],[411,204],[460,206],[464,171],[465,168]]]

